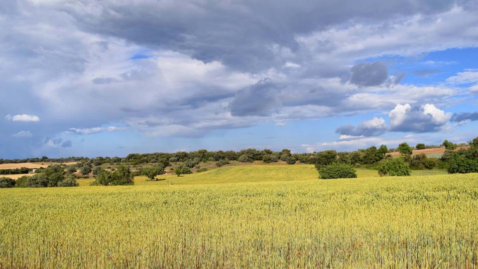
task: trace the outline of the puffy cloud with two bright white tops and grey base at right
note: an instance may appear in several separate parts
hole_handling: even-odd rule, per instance
[[[436,108],[433,104],[410,106],[396,105],[388,114],[389,131],[426,133],[441,131],[452,117],[451,113]]]

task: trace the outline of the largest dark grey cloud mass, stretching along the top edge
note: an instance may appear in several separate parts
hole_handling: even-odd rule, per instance
[[[220,61],[250,72],[282,65],[284,59],[271,48],[296,51],[297,35],[352,20],[431,14],[454,4],[447,0],[243,0],[230,4],[137,0],[131,5],[113,0],[80,0],[60,9],[90,32],[179,51],[204,62]]]

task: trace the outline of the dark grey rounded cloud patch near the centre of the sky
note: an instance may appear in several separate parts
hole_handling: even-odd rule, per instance
[[[238,91],[229,104],[231,115],[265,117],[278,113],[282,104],[276,87],[270,79],[263,79]]]

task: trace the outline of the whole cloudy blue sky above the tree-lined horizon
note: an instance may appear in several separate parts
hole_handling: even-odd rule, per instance
[[[478,136],[477,0],[5,0],[0,158]]]

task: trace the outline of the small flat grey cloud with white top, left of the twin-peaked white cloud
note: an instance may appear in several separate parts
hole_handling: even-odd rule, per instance
[[[341,126],[336,129],[337,134],[341,134],[341,139],[351,136],[376,136],[385,133],[387,126],[383,118],[373,117],[372,120],[365,121],[357,127],[352,125]]]

